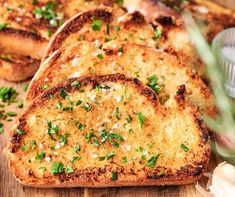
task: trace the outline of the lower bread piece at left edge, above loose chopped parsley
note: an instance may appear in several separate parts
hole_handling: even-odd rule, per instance
[[[40,60],[29,56],[0,54],[0,76],[8,81],[24,81],[32,77],[40,65]]]

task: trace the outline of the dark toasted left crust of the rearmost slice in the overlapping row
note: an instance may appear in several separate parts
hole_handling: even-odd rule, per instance
[[[50,39],[42,61],[44,61],[48,56],[50,56],[50,54],[58,49],[68,35],[79,31],[87,22],[91,22],[94,18],[96,18],[108,23],[112,20],[112,17],[113,14],[109,7],[85,11],[71,17],[57,30],[57,32]]]

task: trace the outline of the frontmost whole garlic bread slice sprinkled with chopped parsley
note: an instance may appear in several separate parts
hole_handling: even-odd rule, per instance
[[[33,187],[188,184],[207,166],[208,132],[185,88],[162,107],[124,75],[74,78],[25,108],[11,133],[13,175]]]

